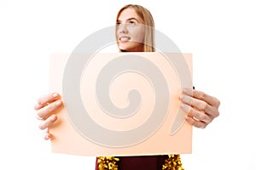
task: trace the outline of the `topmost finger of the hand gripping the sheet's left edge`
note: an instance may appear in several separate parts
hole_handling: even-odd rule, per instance
[[[54,102],[57,99],[60,99],[60,94],[58,93],[45,94],[38,99],[38,102],[34,106],[34,109],[38,111],[39,109],[43,108],[45,105],[49,105],[50,103]]]

